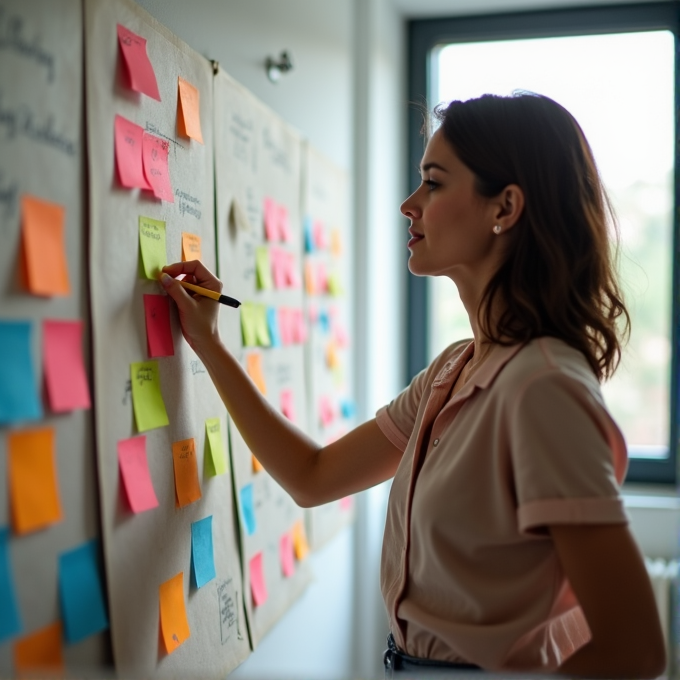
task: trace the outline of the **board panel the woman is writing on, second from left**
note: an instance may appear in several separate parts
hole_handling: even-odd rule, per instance
[[[157,317],[145,316],[144,295],[164,293],[156,280],[143,278],[143,266],[149,266],[154,253],[168,262],[181,259],[182,233],[200,237],[200,259],[213,270],[216,266],[212,67],[127,0],[88,0],[85,10],[96,425],[116,667],[121,674],[143,677],[224,677],[249,654],[231,472],[227,465],[226,471],[215,474],[217,459],[227,452],[227,414],[206,369],[182,338],[173,304],[169,321],[174,354],[158,356],[157,349],[148,346],[152,337],[147,328],[156,328]],[[133,54],[137,61],[132,70],[125,61],[119,24],[131,32],[124,33],[127,47],[138,47],[140,37],[147,41],[145,52],[160,101],[131,89],[153,88],[148,68],[143,68],[144,49]],[[180,99],[180,78],[198,91],[198,103],[195,97],[193,104]],[[198,120],[192,115],[196,105]],[[118,150],[114,156],[116,115],[161,140],[157,155],[144,161],[149,164],[144,174],[147,180],[158,181],[169,173],[171,191],[160,190],[165,200],[151,191],[122,186]],[[203,143],[196,139],[198,122]],[[136,148],[132,132],[129,139]],[[169,148],[165,168],[154,165],[162,163],[162,143]],[[139,156],[125,158],[127,181],[131,177],[139,181]],[[153,222],[149,231],[140,229],[140,217],[165,223],[165,247],[162,229]],[[145,241],[147,237],[150,240]],[[148,259],[142,259],[142,251]],[[163,314],[160,317],[158,323]],[[168,337],[161,332],[162,323],[159,328],[163,345]],[[131,371],[132,363],[148,361],[150,353],[158,357],[152,359],[154,364]],[[158,383],[167,425],[153,391]],[[142,401],[140,395],[149,396]],[[133,406],[144,406],[151,422],[134,414]],[[207,419],[219,423],[212,444],[206,440]],[[133,512],[133,497],[138,508],[153,505],[154,500],[149,501],[148,487],[142,496],[131,492],[130,480],[126,478],[124,485],[119,471],[121,442],[131,440],[139,446],[140,429],[145,429],[157,507]],[[190,446],[173,448],[186,440],[193,440],[193,451]],[[215,447],[222,451],[216,453]],[[141,472],[137,469],[130,479],[140,482]],[[208,566],[214,561],[215,573],[197,587],[193,523],[208,517],[213,544]],[[206,544],[200,547],[198,566],[204,574]]]

